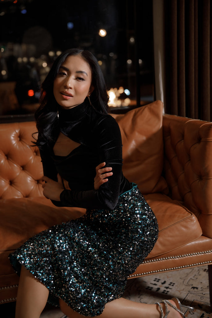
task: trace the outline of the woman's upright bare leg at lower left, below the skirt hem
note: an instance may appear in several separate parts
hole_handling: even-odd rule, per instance
[[[39,318],[48,295],[48,289],[22,266],[16,301],[16,318]]]

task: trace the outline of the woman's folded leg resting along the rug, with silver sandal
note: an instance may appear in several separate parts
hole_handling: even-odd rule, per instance
[[[174,306],[174,301],[170,301]],[[69,318],[82,318],[77,312],[73,311],[64,301],[59,300],[61,311]],[[161,304],[164,313],[165,306]],[[170,313],[168,318],[182,318],[182,316],[173,308],[168,306]],[[158,305],[142,304],[140,302],[130,301],[125,298],[115,299],[105,305],[103,313],[97,318],[161,318],[161,312]]]

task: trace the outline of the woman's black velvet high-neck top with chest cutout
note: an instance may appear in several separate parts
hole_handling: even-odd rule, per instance
[[[86,102],[59,112],[59,129],[80,145],[67,156],[56,156],[54,143],[45,150],[40,149],[44,176],[57,181],[57,174],[68,181],[71,190],[63,190],[60,201],[52,200],[56,206],[72,206],[92,209],[114,209],[119,195],[129,190],[130,183],[122,174],[122,141],[115,119],[100,114]],[[96,166],[106,162],[113,175],[94,190]]]

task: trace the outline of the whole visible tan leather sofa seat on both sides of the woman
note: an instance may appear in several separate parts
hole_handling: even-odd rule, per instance
[[[170,252],[202,235],[193,213],[166,195],[145,195],[159,224],[159,238],[148,258]],[[13,273],[8,254],[33,235],[55,224],[80,217],[85,209],[55,207],[44,197],[1,200],[0,264],[2,274]]]

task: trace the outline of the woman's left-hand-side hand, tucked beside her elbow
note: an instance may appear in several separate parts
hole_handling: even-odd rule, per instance
[[[58,174],[58,182],[43,176],[42,181],[45,183],[42,185],[44,197],[50,200],[60,201],[60,193],[64,190],[63,181],[61,176]]]

